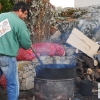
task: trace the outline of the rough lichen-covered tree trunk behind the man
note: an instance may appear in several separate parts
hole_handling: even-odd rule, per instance
[[[32,0],[30,5],[28,28],[33,43],[50,38],[50,19],[53,16],[54,6],[49,0]]]

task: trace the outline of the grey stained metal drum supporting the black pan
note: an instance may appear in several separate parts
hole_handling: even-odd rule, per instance
[[[35,100],[74,100],[74,78],[48,80],[35,78]]]

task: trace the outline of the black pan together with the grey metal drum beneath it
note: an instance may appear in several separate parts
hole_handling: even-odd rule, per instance
[[[75,65],[45,64],[35,68],[35,100],[73,100]]]

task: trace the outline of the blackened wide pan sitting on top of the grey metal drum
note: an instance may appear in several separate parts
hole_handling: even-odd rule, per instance
[[[70,79],[76,76],[76,67],[67,64],[44,64],[44,67],[38,65],[35,71],[36,77],[41,79]]]

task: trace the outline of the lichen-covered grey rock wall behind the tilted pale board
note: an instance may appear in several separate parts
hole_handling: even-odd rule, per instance
[[[52,24],[61,32],[65,42],[72,29],[76,27],[94,41],[100,41],[100,5],[81,8],[58,8]]]

